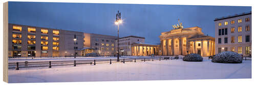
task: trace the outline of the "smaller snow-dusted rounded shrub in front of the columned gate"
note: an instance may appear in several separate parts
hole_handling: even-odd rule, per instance
[[[184,56],[183,61],[188,61],[188,62],[202,62],[203,58],[201,55],[196,54],[196,53],[190,53],[186,56]]]

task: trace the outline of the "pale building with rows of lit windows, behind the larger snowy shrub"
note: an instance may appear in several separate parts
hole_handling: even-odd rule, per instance
[[[214,22],[216,54],[222,51],[251,54],[251,12],[216,18]]]

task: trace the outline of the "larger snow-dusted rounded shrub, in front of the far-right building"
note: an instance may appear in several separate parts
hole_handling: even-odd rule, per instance
[[[242,63],[243,58],[239,53],[224,51],[212,58],[211,62],[215,63]]]

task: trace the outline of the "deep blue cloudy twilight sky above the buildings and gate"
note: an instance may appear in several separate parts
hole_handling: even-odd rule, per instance
[[[251,7],[9,2],[9,23],[117,36],[118,10],[124,20],[120,37],[160,43],[160,34],[172,30],[178,19],[184,28],[199,26],[214,37],[215,18],[249,12]]]

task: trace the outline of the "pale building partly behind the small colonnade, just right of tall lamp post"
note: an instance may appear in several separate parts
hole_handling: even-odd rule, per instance
[[[119,38],[119,54],[120,55],[132,55],[132,44],[133,43],[144,43],[144,37],[138,36],[127,36]],[[117,49],[117,39],[116,39],[116,49]]]

